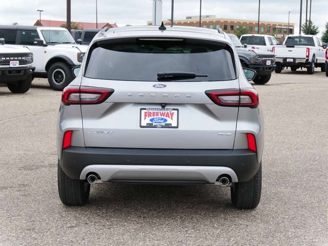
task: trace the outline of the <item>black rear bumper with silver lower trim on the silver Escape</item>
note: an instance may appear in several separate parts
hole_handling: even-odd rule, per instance
[[[175,150],[68,147],[59,160],[72,179],[86,179],[90,172],[102,181],[200,180],[213,183],[222,174],[233,182],[249,181],[260,163],[257,154],[244,150]],[[227,169],[226,169],[227,168]],[[229,170],[228,170],[229,169]],[[227,172],[229,173],[225,173]],[[215,182],[215,180],[214,180]]]

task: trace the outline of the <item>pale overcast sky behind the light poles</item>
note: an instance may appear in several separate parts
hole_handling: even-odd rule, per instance
[[[96,23],[96,1],[98,23],[116,23],[118,26],[147,25],[152,20],[153,0],[71,0],[71,21]],[[303,2],[302,23],[305,23],[306,0]],[[310,0],[309,12],[310,12]],[[162,0],[162,19],[171,18],[172,0]],[[200,0],[175,0],[174,19],[186,19],[187,15],[199,16]],[[258,19],[259,0],[202,0],[201,14],[216,18]],[[66,0],[0,0],[0,25],[34,25],[41,18],[66,21]],[[261,0],[260,21],[295,23],[298,34],[300,0]],[[328,22],[328,0],[313,0],[311,20],[319,30]],[[309,18],[309,16],[308,16]],[[321,35],[321,34],[320,34]]]

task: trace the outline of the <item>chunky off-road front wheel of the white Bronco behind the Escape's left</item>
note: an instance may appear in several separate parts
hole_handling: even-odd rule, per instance
[[[66,63],[54,63],[48,70],[49,85],[55,91],[64,90],[64,88],[71,83],[73,78],[71,66]]]

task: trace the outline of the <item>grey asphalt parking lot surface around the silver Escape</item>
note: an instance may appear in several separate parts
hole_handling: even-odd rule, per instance
[[[254,85],[265,120],[259,206],[235,209],[230,189],[92,186],[84,207],[57,192],[61,92],[35,78],[0,85],[0,245],[328,245],[328,77],[316,69]]]

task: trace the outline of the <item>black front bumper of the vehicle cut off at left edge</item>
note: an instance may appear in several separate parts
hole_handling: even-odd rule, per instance
[[[0,84],[14,83],[26,79],[34,67],[26,68],[0,68]]]

